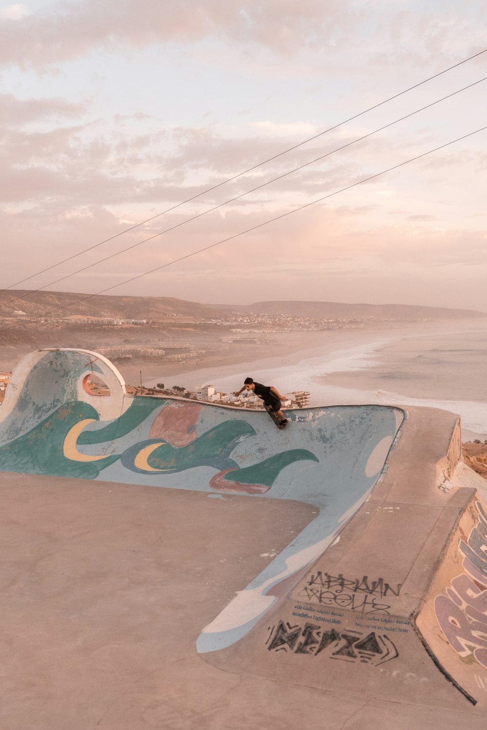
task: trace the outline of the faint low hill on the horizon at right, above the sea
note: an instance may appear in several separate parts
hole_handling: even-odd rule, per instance
[[[256,314],[288,315],[333,319],[341,317],[377,317],[404,319],[461,319],[487,317],[487,312],[453,310],[445,307],[418,307],[415,304],[342,304],[337,301],[256,301],[254,304],[213,304],[217,309]]]

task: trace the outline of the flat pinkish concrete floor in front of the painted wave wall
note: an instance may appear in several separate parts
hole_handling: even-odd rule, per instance
[[[315,507],[9,473],[1,504],[1,730],[485,730],[196,653]]]

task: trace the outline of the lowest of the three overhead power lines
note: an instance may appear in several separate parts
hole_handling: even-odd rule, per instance
[[[294,208],[294,210],[288,210],[288,212],[281,213],[280,215],[275,216],[275,218],[270,218],[269,220],[265,220],[263,223],[258,223],[257,226],[252,226],[251,228],[247,228],[245,231],[240,231],[239,233],[234,234],[233,236],[229,236],[228,238],[221,239],[221,241],[217,241],[208,246],[199,248],[198,250],[193,251],[192,253],[188,253],[184,256],[180,256],[179,258],[175,258],[172,261],[168,261],[166,264],[162,264],[161,266],[156,266],[155,269],[150,269],[150,271],[144,272],[143,274],[137,274],[137,276],[131,277],[130,279],[126,279],[123,282],[114,284],[113,286],[109,286],[105,289],[101,289],[101,291],[96,291],[93,294],[88,294],[87,296],[83,296],[81,299],[76,299],[75,301],[72,301],[69,304],[64,304],[63,307],[55,307],[53,310],[49,310],[47,312],[44,312],[44,314],[42,314],[42,315],[38,315],[37,317],[34,317],[34,320],[40,319],[41,317],[45,317],[49,314],[52,314],[53,312],[61,312],[61,310],[65,310],[68,307],[73,307],[74,304],[79,304],[80,301],[86,301],[87,299],[91,299],[93,296],[99,296],[100,294],[104,294],[107,291],[112,291],[112,289],[116,289],[119,286],[123,286],[124,284],[128,284],[137,279],[142,279],[142,277],[145,277],[145,276],[148,276],[149,274],[153,274],[155,272],[161,271],[161,269],[166,269],[167,266],[172,266],[173,264],[177,264],[179,261],[185,261],[186,258],[191,258],[193,256],[198,255],[199,253],[203,253],[204,251],[210,250],[211,248],[220,246],[223,243],[227,243],[236,238],[239,238],[240,236],[244,236],[245,234],[251,233],[252,231],[256,231],[258,228],[262,228],[263,226],[268,226],[269,223],[274,223],[276,220],[286,218],[288,215],[292,215],[293,213],[299,212],[299,210],[304,210],[305,208],[309,208],[312,205],[321,203],[321,202],[323,202],[323,200],[329,199],[335,195],[338,195],[339,193],[343,193],[347,190],[350,190],[351,188],[356,188],[357,185],[362,185],[363,183],[368,183],[369,180],[375,180],[375,178],[380,177],[381,175],[384,175],[387,172],[391,172],[392,170],[396,170],[399,167],[410,164],[410,162],[420,160],[421,158],[426,157],[426,155],[431,155],[432,153],[437,152],[438,150],[443,150],[445,147],[450,147],[450,145],[454,145],[456,142],[461,142],[462,139],[467,139],[467,137],[472,137],[474,134],[479,134],[479,132],[484,131],[486,129],[487,129],[487,126],[480,127],[480,129],[475,129],[475,131],[469,132],[469,134],[464,134],[464,135],[462,135],[462,137],[457,137],[456,139],[452,139],[450,142],[445,142],[444,145],[440,145],[439,147],[434,147],[434,149],[428,150],[428,152],[423,152],[421,155],[415,155],[415,157],[412,157],[409,160],[404,160],[404,162],[399,162],[399,164],[393,165],[392,167],[388,167],[386,170],[382,170],[381,172],[376,172],[373,175],[369,175],[369,177],[365,177],[363,180],[358,180],[357,183],[352,183],[351,185],[347,185],[345,188],[340,188],[340,190],[334,191],[333,193],[328,193],[328,195],[322,196],[321,198],[313,200],[310,203],[300,205],[299,207]],[[15,325],[12,325],[11,327],[6,327],[5,329],[7,330],[14,326],[18,327],[18,323],[15,323]]]

